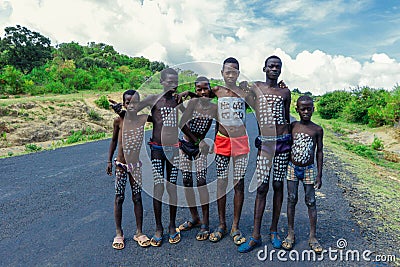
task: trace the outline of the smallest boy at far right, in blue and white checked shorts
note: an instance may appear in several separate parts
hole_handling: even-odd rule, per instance
[[[292,249],[295,243],[294,215],[298,200],[299,181],[303,182],[305,203],[310,219],[310,237],[308,244],[316,253],[322,252],[322,246],[316,238],[317,208],[315,189],[322,186],[323,164],[323,129],[311,121],[314,112],[313,100],[309,96],[301,96],[297,100],[297,113],[300,121],[292,122],[293,145],[287,172],[288,188],[288,235],[282,242],[284,249]],[[314,165],[316,155],[317,168]]]

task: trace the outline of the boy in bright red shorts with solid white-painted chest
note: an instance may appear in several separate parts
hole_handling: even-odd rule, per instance
[[[246,241],[239,230],[239,220],[244,201],[244,176],[250,151],[244,125],[246,105],[243,96],[241,96],[243,90],[236,85],[239,73],[239,62],[232,57],[225,59],[221,70],[225,85],[213,88],[213,92],[218,97],[218,123],[216,125],[214,151],[216,153],[219,226],[209,237],[211,242],[218,242],[227,233],[226,189],[228,186],[229,161],[232,158],[234,211],[230,235],[236,245]]]

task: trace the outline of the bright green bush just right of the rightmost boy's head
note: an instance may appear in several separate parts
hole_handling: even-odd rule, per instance
[[[337,119],[350,99],[350,92],[333,91],[326,93],[316,103],[317,112],[323,119]]]

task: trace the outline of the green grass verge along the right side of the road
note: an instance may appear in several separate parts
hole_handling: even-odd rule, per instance
[[[324,145],[345,163],[343,168],[357,177],[357,181],[346,175],[341,179],[352,184],[358,195],[368,196],[369,201],[361,200],[360,203],[357,203],[357,197],[350,196],[356,207],[361,204],[370,214],[369,218],[361,218],[359,225],[364,229],[376,227],[378,232],[389,233],[400,242],[400,164],[385,160],[383,153],[371,146],[342,136],[343,133],[366,130],[367,126],[327,121],[317,115],[313,116],[313,121],[324,128]],[[337,128],[341,133],[338,134]]]

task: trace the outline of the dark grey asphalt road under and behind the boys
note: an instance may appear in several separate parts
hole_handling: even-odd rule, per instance
[[[255,169],[256,134],[254,118],[248,119],[252,152],[248,170]],[[147,135],[148,138],[148,135]],[[272,262],[264,257],[265,249],[271,253],[268,229],[271,221],[272,190],[268,194],[263,218],[263,246],[247,254],[237,252],[231,238],[218,243],[196,241],[197,229],[182,232],[182,241],[168,243],[168,207],[163,207],[164,242],[159,248],[141,248],[133,241],[135,221],[130,189],[124,203],[123,228],[125,249],[112,249],[115,235],[113,217],[114,177],[106,175],[109,140],[43,151],[35,154],[0,159],[0,266],[374,266],[346,261],[346,250],[358,250],[360,257],[368,249],[360,231],[351,219],[349,205],[337,186],[336,171],[340,162],[325,151],[323,187],[318,193],[318,237],[325,249],[336,249],[337,240],[344,238],[348,246],[325,254],[322,262],[301,261],[301,253],[308,249],[308,217],[302,187],[296,211],[296,245],[300,261],[292,261],[288,254],[281,255],[287,262],[272,254]],[[146,155],[143,149],[143,155]],[[208,181],[215,180],[215,167],[211,165]],[[180,177],[180,176],[179,176]],[[252,177],[246,175],[246,189]],[[144,160],[143,179],[151,185],[152,174],[148,160]],[[181,183],[181,178],[179,178]],[[129,189],[129,190],[128,190]],[[145,191],[147,189],[145,188]],[[149,192],[147,190],[147,192]],[[227,222],[232,222],[233,194],[228,194]],[[250,235],[253,224],[255,192],[245,192],[241,229]],[[183,199],[183,195],[180,195]],[[152,236],[155,230],[151,197],[144,192],[144,232]],[[178,209],[177,224],[189,219],[186,208]],[[218,225],[216,202],[210,206],[210,226]],[[286,189],[282,216],[279,222],[282,238],[286,234]],[[340,253],[340,251],[342,253]],[[343,255],[342,260],[340,254]],[[294,254],[293,254],[294,255]],[[334,257],[336,260],[331,260]],[[294,255],[295,256],[295,255]]]

